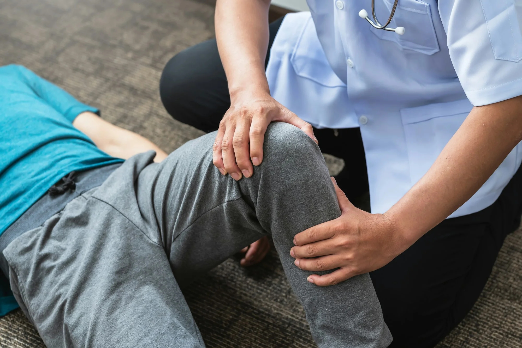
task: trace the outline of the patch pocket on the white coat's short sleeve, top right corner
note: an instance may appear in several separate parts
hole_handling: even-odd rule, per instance
[[[480,0],[496,59],[522,60],[522,23],[514,0]],[[518,7],[518,11],[522,8]]]

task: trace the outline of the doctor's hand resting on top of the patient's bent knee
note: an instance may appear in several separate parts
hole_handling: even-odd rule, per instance
[[[270,122],[286,122],[300,128],[316,143],[310,123],[300,119],[274,98],[263,93],[242,92],[231,97],[230,108],[219,123],[212,147],[214,165],[234,180],[251,177],[263,161],[263,141]]]

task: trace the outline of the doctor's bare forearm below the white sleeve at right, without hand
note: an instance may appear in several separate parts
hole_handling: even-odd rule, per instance
[[[477,192],[520,140],[522,96],[473,108],[430,170],[385,215],[413,244]]]

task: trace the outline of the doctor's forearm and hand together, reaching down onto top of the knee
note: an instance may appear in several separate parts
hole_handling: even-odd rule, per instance
[[[265,132],[273,121],[300,128],[317,142],[312,126],[270,95],[265,60],[270,0],[218,0],[216,41],[227,75],[230,107],[219,122],[212,162],[222,175],[250,178],[263,161]]]

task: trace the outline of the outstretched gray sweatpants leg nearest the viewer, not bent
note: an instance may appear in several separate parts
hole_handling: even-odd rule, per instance
[[[113,178],[147,161],[136,157]],[[124,210],[92,196],[103,189],[75,198],[4,250],[23,312],[50,348],[204,347],[163,247]]]

